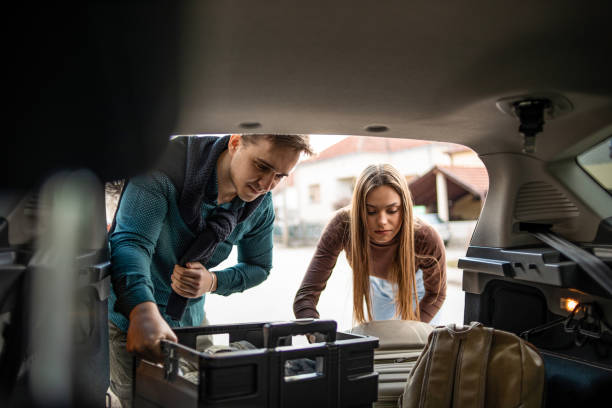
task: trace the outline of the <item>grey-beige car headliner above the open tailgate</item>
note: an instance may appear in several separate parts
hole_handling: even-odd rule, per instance
[[[176,133],[384,125],[381,136],[520,152],[519,122],[496,101],[546,91],[573,105],[538,137],[537,157],[558,158],[611,123],[611,15],[609,1],[190,2]]]

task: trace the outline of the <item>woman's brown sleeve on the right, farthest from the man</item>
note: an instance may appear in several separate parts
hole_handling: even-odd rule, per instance
[[[427,224],[416,229],[414,246],[425,285],[419,303],[421,321],[429,323],[446,299],[446,250],[440,235]]]

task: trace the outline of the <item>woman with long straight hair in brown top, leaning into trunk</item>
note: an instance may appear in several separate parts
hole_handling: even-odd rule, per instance
[[[319,296],[342,250],[353,269],[356,323],[430,322],[440,310],[446,298],[444,244],[430,225],[413,217],[406,180],[391,165],[368,166],[351,206],[325,227],[293,302],[297,318],[319,317]]]

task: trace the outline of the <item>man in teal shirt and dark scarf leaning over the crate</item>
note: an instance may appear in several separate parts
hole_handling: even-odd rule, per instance
[[[130,405],[132,354],[161,358],[171,327],[205,323],[204,295],[263,282],[272,267],[272,190],[312,154],[307,136],[182,137],[125,186],[111,230],[111,390]],[[211,271],[238,246],[238,263]]]

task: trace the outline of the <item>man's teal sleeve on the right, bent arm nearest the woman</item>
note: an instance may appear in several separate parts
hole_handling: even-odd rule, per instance
[[[215,294],[230,295],[257,286],[268,278],[272,269],[272,232],[274,207],[268,194],[260,204],[264,206],[253,228],[238,241],[238,263],[215,271]]]

